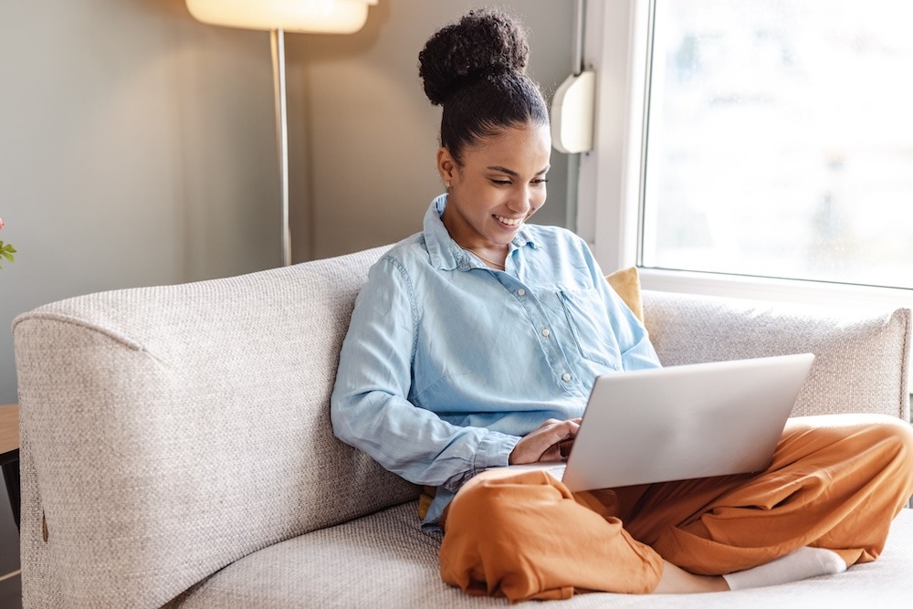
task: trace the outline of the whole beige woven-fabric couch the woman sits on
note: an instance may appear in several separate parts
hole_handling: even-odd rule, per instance
[[[417,489],[332,436],[337,354],[382,251],[18,317],[25,606],[504,606],[441,583]],[[644,309],[666,365],[812,351],[796,415],[908,420],[909,310],[655,292]],[[907,606],[911,575],[905,509],[881,560],[834,577],[559,606]]]

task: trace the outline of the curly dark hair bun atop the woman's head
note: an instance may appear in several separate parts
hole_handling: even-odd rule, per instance
[[[434,105],[476,79],[526,72],[530,46],[519,22],[502,11],[470,11],[439,29],[418,54],[418,74]]]

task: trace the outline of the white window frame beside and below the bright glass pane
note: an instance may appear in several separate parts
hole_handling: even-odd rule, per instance
[[[637,266],[644,289],[808,304],[913,308],[913,289],[644,268],[640,252],[652,0],[587,2],[583,59],[596,70],[595,146],[582,154],[577,232],[605,272]],[[913,236],[911,236],[913,238]]]

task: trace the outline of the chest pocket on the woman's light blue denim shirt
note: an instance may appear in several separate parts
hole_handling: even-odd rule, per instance
[[[621,352],[596,289],[562,289],[558,293],[582,358],[621,369]]]

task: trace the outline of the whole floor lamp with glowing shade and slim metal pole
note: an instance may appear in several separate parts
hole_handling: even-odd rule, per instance
[[[285,32],[352,34],[364,26],[377,0],[186,0],[198,21],[269,31],[276,95],[276,137],[282,187],[282,264],[291,264],[289,127],[286,110]]]

